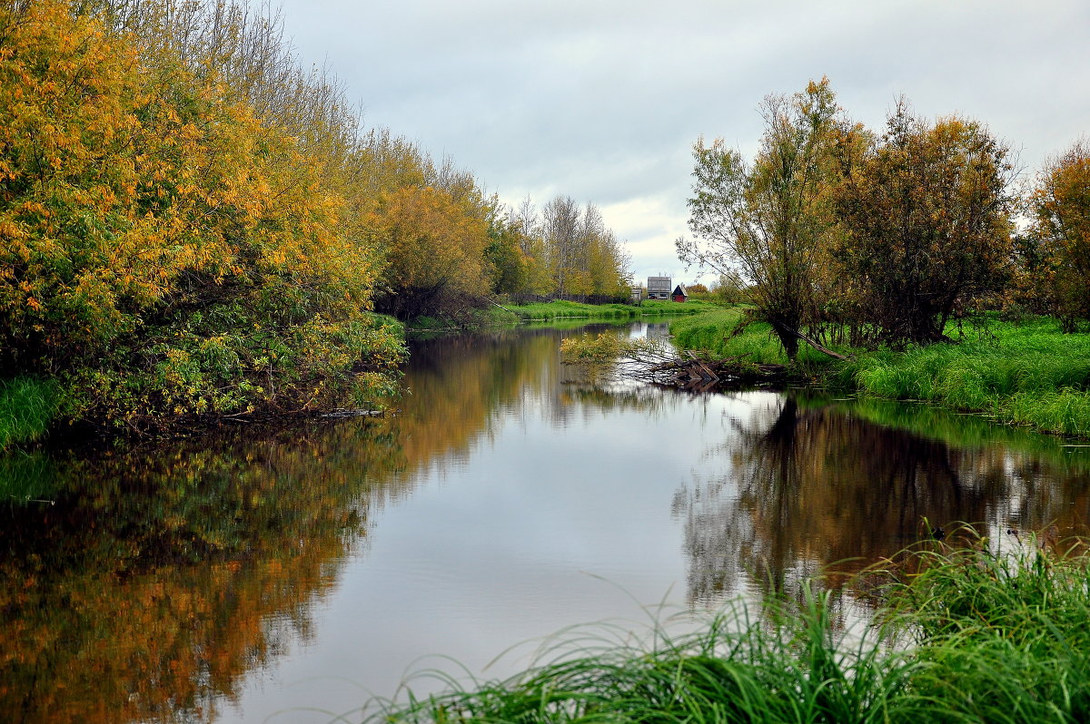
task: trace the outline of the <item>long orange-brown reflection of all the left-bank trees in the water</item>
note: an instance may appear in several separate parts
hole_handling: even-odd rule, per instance
[[[560,334],[421,342],[391,417],[0,459],[5,483],[38,481],[5,489],[53,501],[0,504],[0,720],[214,720],[311,636],[374,510],[420,471],[502,416],[601,402],[561,384]]]

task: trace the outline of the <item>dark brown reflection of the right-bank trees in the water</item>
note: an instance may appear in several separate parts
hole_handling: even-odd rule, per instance
[[[720,451],[728,476],[676,496],[691,604],[720,601],[743,577],[797,591],[831,564],[858,572],[919,540],[923,518],[983,524],[994,536],[1087,510],[1085,471],[1058,476],[1036,455],[954,447],[833,406],[776,401],[736,422]]]

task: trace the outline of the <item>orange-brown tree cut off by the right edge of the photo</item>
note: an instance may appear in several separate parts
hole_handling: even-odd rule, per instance
[[[1090,144],[1079,139],[1050,159],[1030,197],[1029,238],[1052,310],[1074,331],[1090,320]]]

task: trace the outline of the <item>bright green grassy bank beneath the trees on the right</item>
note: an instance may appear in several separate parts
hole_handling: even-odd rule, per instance
[[[767,324],[736,333],[741,308],[724,308],[670,326],[677,346],[718,357],[746,355],[786,363]],[[1066,334],[1059,322],[988,319],[952,326],[957,340],[906,352],[838,349],[846,361],[801,346],[800,373],[822,383],[891,400],[932,402],[1042,432],[1090,437],[1090,334]]]

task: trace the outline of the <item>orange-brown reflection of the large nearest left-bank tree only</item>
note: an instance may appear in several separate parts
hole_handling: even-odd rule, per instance
[[[305,642],[399,459],[382,425],[328,432],[53,459],[52,504],[0,507],[3,720],[209,721]]]

